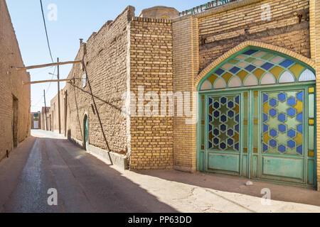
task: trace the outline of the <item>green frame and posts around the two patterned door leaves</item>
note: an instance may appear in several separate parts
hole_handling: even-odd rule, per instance
[[[199,116],[199,121],[197,123],[196,129],[196,168],[197,171],[200,172],[208,172],[207,170],[207,153],[206,152],[206,148],[207,148],[207,141],[208,141],[208,135],[206,135],[208,132],[208,114],[205,113],[205,150],[201,150],[201,116],[202,116],[202,100],[201,100],[201,96],[205,95],[205,111],[207,110],[206,106],[208,106],[207,100],[208,100],[208,96],[210,95],[215,95],[215,96],[219,96],[219,95],[225,95],[225,92],[228,91],[228,94],[241,94],[242,92],[248,92],[248,93],[252,93],[254,91],[258,91],[258,92],[265,92],[265,91],[272,91],[272,92],[277,92],[277,91],[281,91],[282,89],[305,89],[306,87],[316,87],[316,82],[311,81],[311,82],[299,82],[299,83],[287,83],[287,84],[270,84],[270,85],[260,85],[260,86],[252,86],[252,87],[238,87],[238,88],[228,88],[228,89],[217,89],[217,90],[208,90],[208,91],[201,91],[198,92],[198,116]],[[238,92],[238,93],[237,93]],[[248,101],[248,111],[253,111],[254,106],[252,105],[252,95],[249,95],[250,100]],[[314,89],[314,99],[316,99],[316,89]],[[304,95],[304,100],[306,100],[306,94]],[[241,111],[240,111],[240,116],[241,119],[243,118],[243,100],[241,99]],[[306,106],[304,107],[304,111],[306,111]],[[259,106],[259,109],[261,108],[261,106]],[[261,111],[260,111],[261,114]],[[317,184],[317,176],[316,176],[316,159],[317,159],[317,148],[316,148],[316,101],[314,101],[314,185],[310,185],[307,183],[296,183],[296,182],[285,182],[282,180],[277,180],[277,179],[265,179],[265,178],[259,178],[259,177],[252,177],[252,169],[251,169],[251,165],[252,165],[252,149],[250,149],[250,146],[252,145],[252,143],[248,143],[248,153],[247,153],[247,167],[246,167],[246,171],[247,171],[247,177],[248,179],[258,179],[261,181],[267,181],[267,182],[280,182],[281,184],[289,184],[289,185],[298,185],[298,186],[302,186],[302,187],[316,187]],[[250,116],[249,116],[250,117]],[[260,117],[260,116],[259,116]],[[306,117],[306,114],[304,114],[304,118]],[[248,119],[249,120],[249,119]],[[253,132],[252,132],[252,119],[250,119],[250,123],[248,123],[248,135],[249,138],[248,140],[252,140],[253,139]],[[259,131],[260,131],[260,127],[259,126]],[[305,124],[304,126],[304,130],[306,130],[307,124]],[[242,127],[242,123],[240,123],[240,133],[243,135],[243,127]],[[306,155],[307,153],[307,149],[306,149],[306,145],[307,143],[307,133],[304,133],[304,141],[306,141],[306,143],[304,143],[304,154]],[[261,141],[260,141],[261,142]],[[240,137],[240,143],[241,143],[241,147],[240,147],[240,176],[242,176],[242,170],[241,170],[241,163],[242,163],[242,158],[243,158],[243,151],[242,151],[242,143],[243,143],[243,136]],[[259,143],[260,145],[260,143]],[[258,161],[260,162],[260,152],[258,153],[259,157],[258,157]],[[308,158],[304,157],[304,164],[308,161]],[[305,164],[306,165],[306,164]],[[304,167],[304,176],[306,177],[307,174],[307,170],[305,170],[306,166]],[[260,166],[258,168],[257,171],[260,171],[261,169],[261,163]],[[215,172],[208,172],[208,173],[215,173]],[[219,173],[219,172],[217,172]],[[258,174],[259,176],[259,174]],[[305,178],[306,179],[306,178]]]

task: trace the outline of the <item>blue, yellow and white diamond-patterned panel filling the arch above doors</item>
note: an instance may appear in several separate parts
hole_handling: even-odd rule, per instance
[[[316,76],[308,67],[277,52],[249,48],[238,52],[210,72],[201,91],[313,81]],[[235,82],[235,78],[240,79]],[[211,86],[208,84],[211,84]]]

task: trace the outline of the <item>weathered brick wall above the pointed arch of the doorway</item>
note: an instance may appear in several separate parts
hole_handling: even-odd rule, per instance
[[[262,4],[270,5],[270,21],[262,21]],[[246,40],[270,43],[311,57],[309,0],[243,0],[233,5],[198,16],[201,70]]]

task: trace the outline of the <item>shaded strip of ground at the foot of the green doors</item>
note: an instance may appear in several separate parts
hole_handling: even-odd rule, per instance
[[[253,185],[246,186],[246,182],[250,179],[204,174],[201,172],[188,173],[176,170],[134,170],[134,172],[140,175],[158,177],[171,182],[179,182],[196,187],[214,189],[221,192],[245,194],[258,198],[262,198],[264,195],[261,193],[262,189],[270,189],[272,200],[320,206],[320,192],[313,189],[306,189],[304,187],[273,184],[270,182],[252,179],[251,181],[253,182]]]

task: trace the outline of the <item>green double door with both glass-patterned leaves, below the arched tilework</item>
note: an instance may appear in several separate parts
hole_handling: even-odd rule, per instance
[[[198,169],[314,185],[314,85],[201,94]]]

